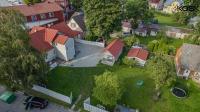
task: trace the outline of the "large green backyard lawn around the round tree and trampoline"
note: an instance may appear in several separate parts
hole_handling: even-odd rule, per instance
[[[189,97],[175,98],[170,89],[163,88],[162,97],[158,102],[152,100],[154,82],[145,68],[129,68],[115,65],[114,67],[98,66],[95,68],[67,68],[59,67],[49,73],[48,87],[54,91],[69,95],[73,92],[74,99],[79,94],[83,99],[91,96],[94,87],[94,76],[101,75],[105,70],[114,72],[125,80],[126,91],[122,96],[121,104],[132,108],[139,108],[142,112],[198,112],[200,110],[200,88],[192,81],[179,80],[181,85],[188,88]],[[136,82],[144,80],[142,87]],[[82,106],[81,103],[78,105]]]

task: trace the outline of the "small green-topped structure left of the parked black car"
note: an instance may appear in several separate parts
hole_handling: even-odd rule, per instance
[[[16,96],[13,92],[6,91],[0,96],[0,100],[10,104],[16,99]]]

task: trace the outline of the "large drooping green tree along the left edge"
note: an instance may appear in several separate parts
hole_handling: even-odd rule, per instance
[[[44,57],[29,45],[24,22],[19,12],[0,9],[0,80],[8,87],[28,88],[48,71]]]

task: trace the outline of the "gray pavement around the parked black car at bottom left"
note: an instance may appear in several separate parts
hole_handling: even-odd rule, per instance
[[[0,93],[3,93],[5,88],[0,86]],[[45,109],[31,109],[25,110],[25,106],[23,105],[23,100],[26,96],[23,95],[21,92],[16,92],[15,95],[17,99],[11,103],[7,104],[0,101],[0,112],[69,112],[68,109],[64,108],[63,106],[56,105],[54,103],[49,102],[49,105]]]

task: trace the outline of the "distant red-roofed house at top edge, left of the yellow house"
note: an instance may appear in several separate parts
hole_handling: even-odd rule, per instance
[[[162,9],[163,0],[149,0],[149,7],[154,9]]]

